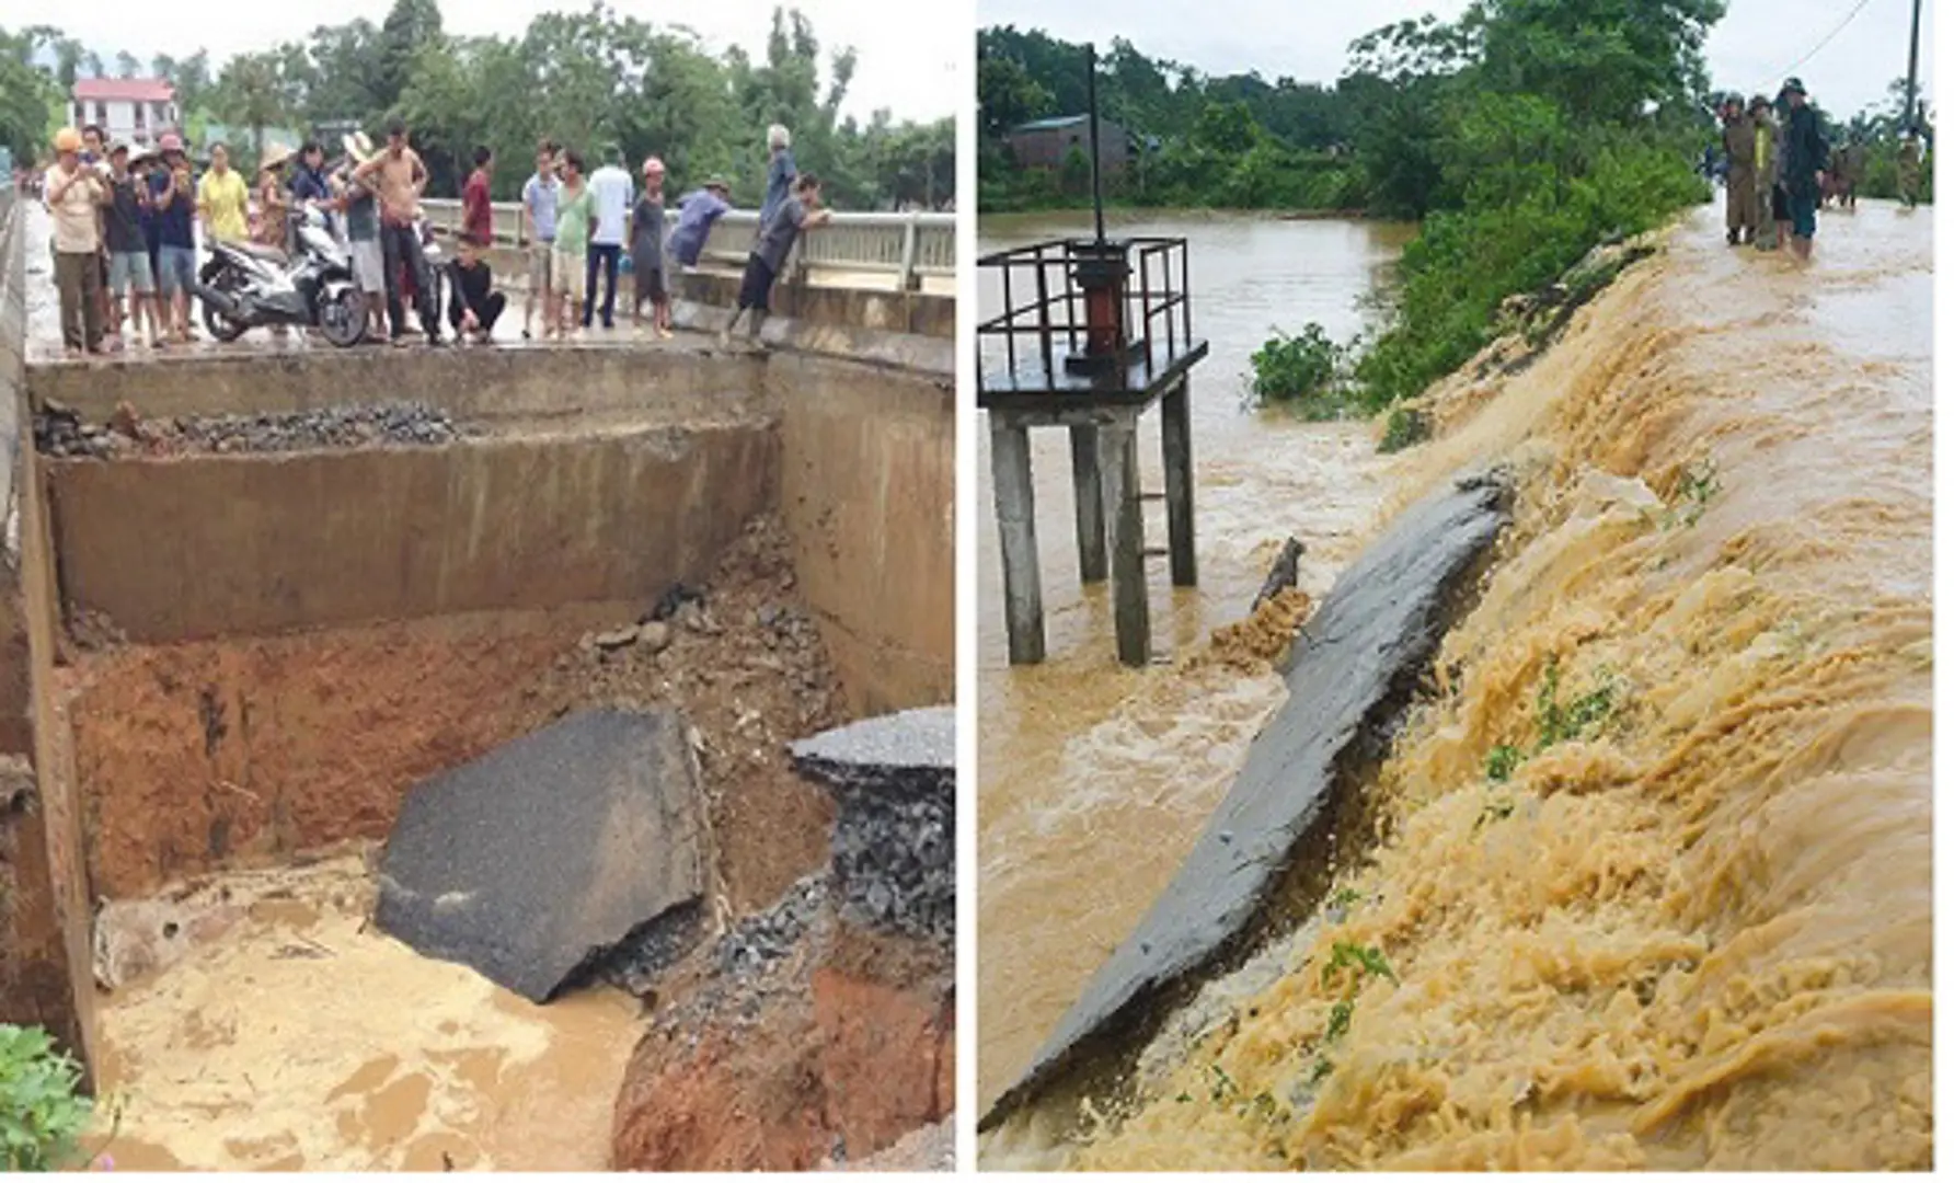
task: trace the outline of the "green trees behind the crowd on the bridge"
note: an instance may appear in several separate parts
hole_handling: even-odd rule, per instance
[[[55,66],[33,66],[35,55]],[[41,98],[33,110],[45,111],[45,98],[59,102],[86,66],[59,29],[0,31],[0,143],[16,143],[16,156],[31,160],[47,143],[45,113],[16,108],[29,111]],[[752,61],[606,4],[541,12],[520,37],[459,37],[444,31],[436,0],[395,0],[379,25],[320,25],[305,41],[215,66],[203,51],[162,55],[147,72],[176,86],[191,129],[213,119],[252,129],[252,143],[240,145],[246,168],[268,127],[354,121],[379,141],[387,117],[399,115],[436,196],[457,194],[475,147],[487,145],[496,154],[494,196],[514,199],[535,168],[535,145],[549,137],[590,158],[608,143],[633,164],[657,154],[672,194],[719,172],[737,203],[758,205],[766,127],[784,123],[795,162],[827,182],[832,205],[944,207],[956,190],[956,121],[895,123],[889,111],[866,125],[842,119],[854,68],[852,49],[823,55],[813,25],[793,10],[774,10],[766,59]]]

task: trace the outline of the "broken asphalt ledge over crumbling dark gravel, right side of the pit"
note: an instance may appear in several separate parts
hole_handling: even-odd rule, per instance
[[[791,745],[836,800],[830,841],[844,919],[950,944],[957,919],[957,716],[905,710]]]

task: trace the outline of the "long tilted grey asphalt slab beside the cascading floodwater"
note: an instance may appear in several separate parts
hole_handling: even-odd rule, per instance
[[[1296,637],[1290,696],[1174,880],[979,1122],[993,1128],[1092,1056],[1145,1042],[1184,978],[1239,946],[1284,874],[1311,858],[1348,770],[1376,759],[1510,520],[1503,473],[1458,477],[1407,508]]]

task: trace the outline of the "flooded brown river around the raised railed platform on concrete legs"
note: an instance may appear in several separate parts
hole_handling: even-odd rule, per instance
[[[1155,669],[1114,659],[1108,587],[1079,585],[1071,452],[1032,432],[1047,661],[1012,669],[991,503],[989,436],[979,430],[979,1101],[1036,1050],[1079,987],[1172,878],[1227,788],[1262,718],[1274,675],[1174,669],[1210,630],[1239,620],[1282,542],[1305,544],[1301,587],[1321,596],[1350,559],[1383,491],[1368,424],[1309,424],[1245,411],[1249,356],[1272,327],[1321,321],[1335,338],[1366,327],[1411,227],[1237,215],[1114,217],[1120,233],[1188,239],[1194,332],[1211,354],[1194,370],[1200,587],[1172,589],[1149,559]],[[1090,215],[985,217],[981,250],[1090,233]],[[989,282],[991,276],[981,276]],[[1002,293],[979,293],[995,315]],[[1141,422],[1141,485],[1161,487],[1157,416]],[[1165,546],[1161,503],[1149,546]]]

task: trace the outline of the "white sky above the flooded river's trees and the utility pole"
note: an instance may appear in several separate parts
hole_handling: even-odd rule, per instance
[[[1710,80],[1720,90],[1770,90],[1852,12],[1858,0],[1729,0],[1710,31]],[[1198,66],[1206,74],[1260,70],[1301,82],[1342,74],[1350,41],[1426,12],[1454,18],[1466,0],[977,0],[983,25],[1045,29],[1067,41],[1106,43],[1120,35],[1151,57]],[[1866,0],[1866,6],[1798,66],[1827,111],[1852,115],[1886,96],[1907,72],[1911,0]],[[1921,14],[1921,90],[1933,98],[1933,0]]]

